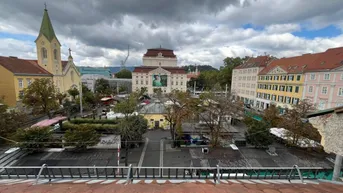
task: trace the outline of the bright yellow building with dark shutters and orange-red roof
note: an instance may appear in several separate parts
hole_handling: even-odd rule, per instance
[[[272,61],[258,74],[256,106],[266,109],[270,104],[292,108],[303,98],[304,72],[316,58],[313,54]]]

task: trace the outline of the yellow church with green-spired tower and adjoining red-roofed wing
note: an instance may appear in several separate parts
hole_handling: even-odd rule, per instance
[[[39,78],[51,78],[61,93],[80,87],[80,73],[73,62],[71,50],[67,61],[61,59],[61,43],[54,32],[47,9],[44,9],[35,43],[36,60],[0,56],[0,99],[3,98],[4,103],[10,107],[18,105],[23,90]]]

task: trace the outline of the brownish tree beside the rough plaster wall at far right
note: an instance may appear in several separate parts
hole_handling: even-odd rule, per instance
[[[285,114],[279,123],[282,127],[289,131],[289,141],[292,145],[296,145],[299,139],[308,138],[315,141],[320,141],[321,136],[316,128],[304,119],[308,113],[314,111],[315,108],[307,100],[301,100],[298,104],[293,105],[292,109],[286,109]]]

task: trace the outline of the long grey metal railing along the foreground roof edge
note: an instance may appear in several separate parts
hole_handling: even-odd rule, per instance
[[[0,179],[329,179],[320,167],[6,166]]]

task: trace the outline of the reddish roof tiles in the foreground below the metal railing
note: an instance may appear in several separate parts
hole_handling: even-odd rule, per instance
[[[23,193],[23,192],[343,192],[343,185],[332,183],[319,184],[249,184],[249,183],[181,183],[181,184],[157,184],[154,180],[151,184],[86,184],[86,183],[52,183],[32,185],[26,184],[0,184],[0,192]]]

